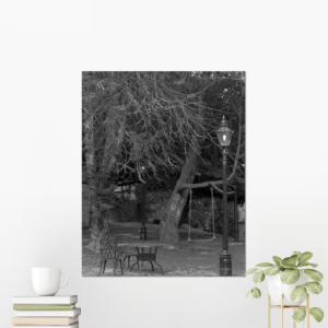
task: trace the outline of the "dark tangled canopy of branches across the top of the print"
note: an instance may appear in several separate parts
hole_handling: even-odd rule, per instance
[[[215,130],[223,114],[234,130],[229,179],[243,185],[244,107],[244,72],[83,72],[83,179],[91,188],[92,215],[102,221],[102,195],[125,175],[157,184],[177,180],[190,150],[189,183],[179,188],[220,184]]]

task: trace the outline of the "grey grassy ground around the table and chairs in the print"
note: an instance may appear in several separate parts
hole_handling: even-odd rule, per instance
[[[131,234],[136,242],[140,242],[139,237],[140,223],[116,223],[110,224],[110,235]],[[159,227],[156,224],[147,224],[149,242],[157,241]],[[91,231],[82,232],[82,276],[97,277],[99,274],[101,254],[86,247]],[[219,277],[219,257],[222,251],[222,236],[211,242],[212,234],[201,230],[191,230],[192,243],[188,243],[188,230],[180,229],[179,245],[177,247],[164,246],[157,249],[157,262],[164,270],[164,277]],[[233,238],[229,238],[229,250],[233,259],[233,276],[245,277],[245,244],[233,243]],[[131,263],[134,259],[131,258]],[[132,271],[126,268],[124,277],[163,277],[160,268],[155,267],[152,271],[151,265],[144,262],[142,270],[138,270],[134,266]],[[120,271],[116,271],[117,277],[121,277]],[[107,261],[106,271],[103,277],[113,277],[113,261]]]

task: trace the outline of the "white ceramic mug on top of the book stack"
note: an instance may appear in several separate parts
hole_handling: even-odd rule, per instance
[[[67,282],[60,285],[60,274],[66,274]],[[52,296],[59,289],[65,288],[69,277],[59,268],[32,268],[32,283],[34,291],[39,296]]]

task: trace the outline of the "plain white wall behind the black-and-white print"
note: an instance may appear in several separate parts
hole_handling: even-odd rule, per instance
[[[246,70],[247,268],[311,250],[328,274],[324,1],[165,1],[162,15],[151,1],[142,12],[132,1],[43,3],[0,9],[1,327],[11,296],[33,294],[34,266],[69,273],[62,293],[79,295],[82,328],[267,325],[266,282],[245,309],[250,278],[82,278],[82,70]],[[326,290],[312,297],[327,304]]]

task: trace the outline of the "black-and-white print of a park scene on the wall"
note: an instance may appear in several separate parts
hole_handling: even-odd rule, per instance
[[[245,272],[245,72],[82,72],[83,277]]]

